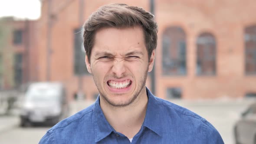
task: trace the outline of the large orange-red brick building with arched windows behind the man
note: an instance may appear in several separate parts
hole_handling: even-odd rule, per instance
[[[150,0],[42,0],[33,31],[36,80],[65,83],[70,99],[79,88],[88,99],[98,94],[86,72],[80,28],[93,11],[109,3],[150,11]],[[195,99],[255,94],[255,10],[255,0],[154,0],[159,26],[155,95]],[[149,88],[150,83],[148,79]]]

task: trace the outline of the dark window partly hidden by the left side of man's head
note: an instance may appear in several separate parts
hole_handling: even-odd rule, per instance
[[[85,75],[89,72],[85,66],[85,49],[82,43],[82,30],[74,30],[74,73],[75,75]]]

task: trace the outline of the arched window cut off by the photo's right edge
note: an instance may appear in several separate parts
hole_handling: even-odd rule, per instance
[[[246,75],[256,74],[256,25],[244,30],[245,72]]]

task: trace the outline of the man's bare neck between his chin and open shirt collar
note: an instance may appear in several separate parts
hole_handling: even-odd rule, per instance
[[[141,128],[147,110],[148,96],[146,92],[126,107],[113,107],[101,101],[100,105],[109,124],[126,137],[132,138]]]

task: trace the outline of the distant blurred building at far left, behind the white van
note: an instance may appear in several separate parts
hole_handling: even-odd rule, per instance
[[[0,89],[38,81],[36,21],[3,17],[0,23]]]

